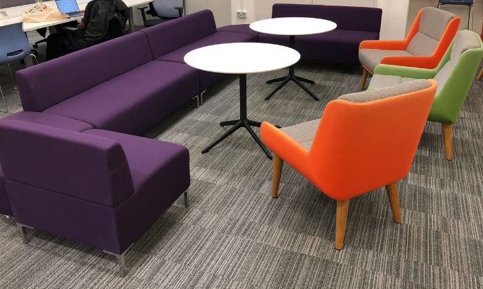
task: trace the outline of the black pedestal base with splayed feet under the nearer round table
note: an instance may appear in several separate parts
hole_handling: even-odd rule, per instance
[[[240,74],[240,119],[220,122],[219,125],[221,125],[222,127],[226,125],[233,125],[233,127],[228,129],[228,131],[226,131],[226,133],[224,133],[220,138],[215,140],[215,142],[212,142],[210,145],[208,145],[208,147],[201,151],[201,153],[208,153],[210,149],[213,149],[213,147],[222,142],[225,138],[228,138],[228,136],[237,131],[237,129],[244,127],[248,131],[248,133],[250,133],[250,136],[252,136],[255,142],[257,142],[262,151],[264,151],[266,157],[272,160],[272,154],[270,153],[270,151],[268,151],[262,140],[260,140],[255,131],[253,131],[253,129],[251,128],[260,127],[262,123],[249,120],[246,114],[246,74]]]

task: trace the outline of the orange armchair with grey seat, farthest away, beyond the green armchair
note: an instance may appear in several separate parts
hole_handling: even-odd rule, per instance
[[[378,64],[435,68],[455,36],[460,17],[434,7],[422,8],[403,40],[370,40],[359,44],[364,67],[361,89]]]

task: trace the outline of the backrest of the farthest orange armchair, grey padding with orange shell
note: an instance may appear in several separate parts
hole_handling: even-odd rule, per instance
[[[440,45],[443,45],[443,50],[446,51],[457,32],[458,25],[460,17],[453,13],[434,7],[422,8],[408,34],[409,43],[406,51],[415,56],[431,56]]]

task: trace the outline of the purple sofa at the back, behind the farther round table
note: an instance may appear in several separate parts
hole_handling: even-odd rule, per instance
[[[377,40],[381,28],[379,8],[275,4],[272,17],[312,17],[337,23],[337,29],[322,34],[297,36],[295,50],[304,61],[360,65],[359,43]],[[257,41],[288,46],[288,36],[254,34],[248,25],[230,25],[219,31],[240,32],[257,36]]]

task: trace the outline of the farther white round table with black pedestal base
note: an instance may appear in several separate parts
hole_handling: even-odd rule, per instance
[[[317,19],[317,18],[308,18],[308,17],[282,17],[282,18],[271,18],[271,19],[264,19],[260,21],[256,21],[250,24],[250,28],[260,33],[265,34],[275,34],[275,35],[286,35],[289,36],[290,40],[290,47],[295,48],[295,36],[300,35],[311,35],[311,34],[319,34],[324,32],[329,32],[337,28],[337,24],[332,21],[324,20],[324,19]],[[288,76],[275,78],[273,80],[267,81],[266,83],[277,83],[282,81],[280,85],[275,88],[275,90],[269,94],[265,100],[270,99],[275,93],[279,91],[284,85],[286,85],[289,81],[293,81],[297,83],[299,87],[302,87],[305,92],[307,92],[310,96],[312,96],[315,100],[319,100],[313,92],[311,92],[302,82],[304,83],[311,83],[315,84],[314,81],[311,81],[306,78],[302,78],[295,75],[295,67],[292,65],[288,69]]]

